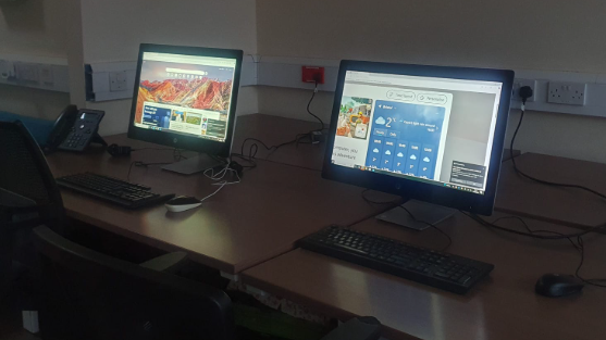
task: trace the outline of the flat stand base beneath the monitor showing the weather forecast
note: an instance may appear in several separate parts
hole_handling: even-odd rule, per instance
[[[409,200],[401,206],[406,207],[418,221],[431,223],[434,226],[453,216],[456,212],[454,209],[416,200]],[[430,227],[425,223],[415,221],[410,214],[399,206],[376,215],[376,218],[415,230],[424,230]]]

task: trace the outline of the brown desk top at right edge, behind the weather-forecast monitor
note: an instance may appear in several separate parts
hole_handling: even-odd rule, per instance
[[[516,158],[522,172],[549,181],[578,184],[606,192],[606,164],[537,153]],[[606,223],[606,200],[579,189],[542,185],[503,163],[495,210],[588,228]]]

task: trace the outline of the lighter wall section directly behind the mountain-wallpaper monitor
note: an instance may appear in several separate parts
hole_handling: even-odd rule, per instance
[[[242,49],[257,52],[256,4],[251,0],[82,1],[84,62],[134,61],[139,43]],[[257,112],[253,88],[242,88],[238,114]],[[87,103],[106,111],[102,135],[124,133],[131,100]]]

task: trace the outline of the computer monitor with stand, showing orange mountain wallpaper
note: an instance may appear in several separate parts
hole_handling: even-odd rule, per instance
[[[143,43],[128,137],[227,158],[243,51]],[[201,155],[165,166],[183,174],[217,164]]]

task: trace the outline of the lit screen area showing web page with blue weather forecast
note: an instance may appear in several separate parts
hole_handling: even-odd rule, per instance
[[[484,194],[502,87],[347,71],[332,163]]]

